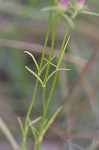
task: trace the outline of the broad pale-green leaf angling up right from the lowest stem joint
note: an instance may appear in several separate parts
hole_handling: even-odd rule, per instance
[[[53,114],[53,116],[51,117],[51,119],[49,120],[49,122],[47,123],[45,130],[43,132],[43,134],[46,133],[46,131],[49,129],[49,127],[51,126],[51,124],[54,122],[55,118],[57,117],[57,115],[60,113],[60,111],[62,110],[63,106],[60,106],[56,112]]]

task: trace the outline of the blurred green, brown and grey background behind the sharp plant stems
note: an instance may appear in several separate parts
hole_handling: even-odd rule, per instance
[[[0,0],[0,117],[20,144],[21,130],[17,117],[24,122],[32,99],[35,77],[25,65],[36,70],[24,51],[34,54],[38,63],[47,27],[50,0]],[[90,10],[99,13],[99,1],[87,0]],[[59,19],[55,55],[64,35],[66,20]],[[49,116],[64,104],[62,113],[45,136],[42,149],[98,150],[99,147],[99,17],[79,15],[70,30],[70,42],[58,75]],[[49,54],[51,31],[46,57]],[[51,68],[53,70],[53,68]],[[50,87],[50,83],[49,83]],[[32,117],[42,113],[41,87]],[[29,135],[29,149],[33,147]],[[0,150],[11,150],[0,131]]]

